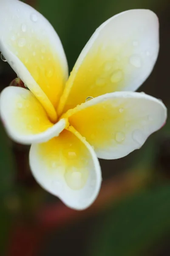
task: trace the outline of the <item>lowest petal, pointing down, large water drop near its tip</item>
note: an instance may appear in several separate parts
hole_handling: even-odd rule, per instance
[[[93,148],[70,130],[47,143],[31,145],[30,167],[44,189],[68,207],[80,210],[94,202],[102,178]]]

